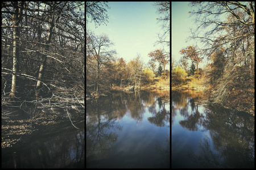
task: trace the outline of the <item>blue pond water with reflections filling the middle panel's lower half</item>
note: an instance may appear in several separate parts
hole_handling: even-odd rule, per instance
[[[86,168],[170,168],[170,92],[86,103]]]

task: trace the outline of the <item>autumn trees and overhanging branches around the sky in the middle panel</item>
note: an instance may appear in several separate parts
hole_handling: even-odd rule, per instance
[[[170,2],[155,4],[160,16],[159,23],[164,33],[159,35],[159,42],[170,45],[165,41],[170,33]],[[108,22],[105,2],[86,2],[86,22],[94,22],[96,27]],[[108,35],[96,35],[90,28],[86,29],[86,100],[105,96],[113,91],[134,91],[143,88],[170,89],[170,52],[164,49],[148,51],[150,61],[141,59],[141,54],[131,56],[127,62],[121,57],[115,57],[114,42]]]

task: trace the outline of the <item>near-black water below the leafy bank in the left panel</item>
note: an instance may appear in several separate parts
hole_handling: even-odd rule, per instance
[[[76,126],[67,120],[37,131],[23,145],[2,148],[2,168],[84,168],[84,121]]]

